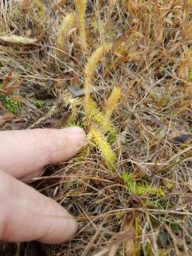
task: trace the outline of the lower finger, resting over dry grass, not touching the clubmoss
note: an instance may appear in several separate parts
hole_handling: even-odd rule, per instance
[[[77,223],[58,203],[0,171],[0,240],[46,243],[73,237]]]

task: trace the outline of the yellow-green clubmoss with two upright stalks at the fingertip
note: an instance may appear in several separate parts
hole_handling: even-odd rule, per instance
[[[90,58],[88,58],[87,64],[85,65],[84,111],[87,128],[89,129],[88,140],[90,140],[90,142],[95,144],[95,146],[100,149],[100,153],[105,161],[105,164],[111,169],[114,167],[117,156],[114,154],[114,151],[112,151],[110,143],[107,141],[107,137],[105,135],[107,132],[112,134],[113,129],[112,124],[110,124],[110,117],[112,112],[117,107],[121,90],[119,87],[114,87],[112,94],[107,101],[104,113],[98,109],[96,102],[92,100],[90,95],[90,83],[92,82],[92,75],[95,72],[97,63],[108,50],[110,50],[110,46],[100,46],[97,48],[97,50],[95,50],[94,53],[92,53]]]

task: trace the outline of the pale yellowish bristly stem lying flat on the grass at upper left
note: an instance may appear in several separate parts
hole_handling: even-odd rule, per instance
[[[17,35],[4,35],[0,36],[0,40],[6,43],[18,43],[21,45],[28,45],[36,43],[36,38],[27,38],[24,36],[17,36]]]

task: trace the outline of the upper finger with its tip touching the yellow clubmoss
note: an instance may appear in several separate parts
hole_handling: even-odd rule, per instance
[[[79,127],[0,132],[0,169],[16,178],[78,153],[85,142]]]

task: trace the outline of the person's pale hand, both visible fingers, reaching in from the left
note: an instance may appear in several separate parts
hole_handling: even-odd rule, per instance
[[[74,156],[85,143],[78,127],[0,132],[0,241],[60,243],[78,225],[70,213],[21,180]]]

